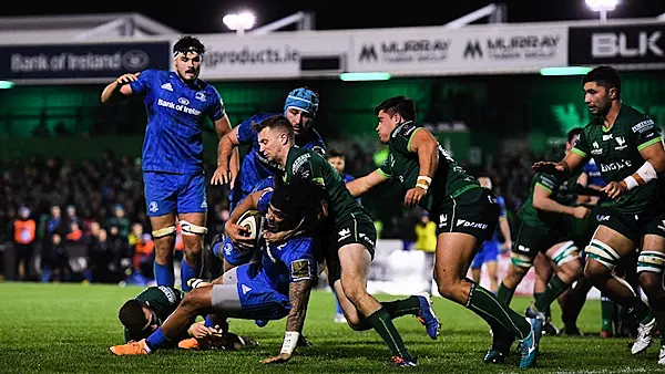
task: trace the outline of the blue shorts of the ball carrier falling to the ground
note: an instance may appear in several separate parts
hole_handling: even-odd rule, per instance
[[[242,319],[280,320],[288,315],[288,297],[270,288],[259,263],[247,263],[236,269]]]

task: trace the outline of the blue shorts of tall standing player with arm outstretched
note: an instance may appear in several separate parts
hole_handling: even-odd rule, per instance
[[[149,217],[206,212],[205,175],[143,172]]]

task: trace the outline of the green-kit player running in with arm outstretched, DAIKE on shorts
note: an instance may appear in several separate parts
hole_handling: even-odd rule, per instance
[[[349,191],[358,197],[390,178],[399,180],[405,204],[421,206],[438,225],[434,278],[439,293],[473,311],[494,332],[485,362],[501,361],[516,337],[522,343],[520,366],[532,366],[538,355],[540,321],[526,320],[505,308],[492,292],[466,278],[477,250],[494,235],[499,221],[497,198],[480,187],[429,131],[413,123],[413,101],[391,97],[375,112],[379,141],[389,145],[390,155],[380,168],[350,181]]]

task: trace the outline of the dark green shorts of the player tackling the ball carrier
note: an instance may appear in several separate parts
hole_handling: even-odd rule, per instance
[[[350,215],[339,225],[331,225],[323,235],[321,243],[326,250],[326,266],[328,268],[328,283],[335,284],[341,277],[339,249],[347,245],[359,243],[369,251],[371,259],[375,257],[377,229],[368,215]]]

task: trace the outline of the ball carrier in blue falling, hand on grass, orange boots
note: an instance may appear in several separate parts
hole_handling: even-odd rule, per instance
[[[167,346],[187,328],[188,321],[200,314],[215,314],[223,319],[287,318],[286,334],[279,355],[263,363],[288,361],[303,331],[309,293],[318,279],[316,238],[308,225],[318,222],[324,198],[319,186],[295,183],[274,190],[249,195],[232,212],[226,233],[236,242],[246,242],[244,227],[236,222],[242,212],[258,209],[266,215],[270,232],[304,229],[303,236],[285,241],[268,242],[259,263],[247,263],[225,272],[212,284],[198,285],[190,291],[178,308],[161,328],[147,339],[111,347],[117,355],[147,354]],[[206,319],[206,325],[218,324]]]

